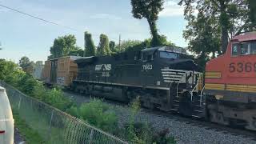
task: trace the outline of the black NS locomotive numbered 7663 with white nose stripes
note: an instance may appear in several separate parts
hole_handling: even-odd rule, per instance
[[[151,109],[190,116],[202,113],[202,73],[180,47],[160,46],[76,62],[78,76],[71,88],[81,93],[121,102],[139,96],[142,106]]]

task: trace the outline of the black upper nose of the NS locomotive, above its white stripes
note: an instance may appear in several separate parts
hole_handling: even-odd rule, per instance
[[[170,64],[170,69],[199,71],[198,65],[190,59],[182,59]]]

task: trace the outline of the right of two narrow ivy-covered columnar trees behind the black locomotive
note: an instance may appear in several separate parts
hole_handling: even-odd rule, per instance
[[[111,50],[110,50],[110,46],[109,46],[109,38],[107,38],[106,34],[101,34],[99,37],[97,54],[99,56],[111,55]]]

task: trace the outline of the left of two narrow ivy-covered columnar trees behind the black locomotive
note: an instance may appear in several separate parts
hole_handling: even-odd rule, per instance
[[[96,49],[94,46],[94,41],[91,38],[91,34],[86,31],[85,32],[85,52],[84,56],[94,56],[96,54]]]

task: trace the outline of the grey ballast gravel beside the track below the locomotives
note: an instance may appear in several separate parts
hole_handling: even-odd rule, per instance
[[[90,98],[81,94],[66,93],[78,105],[81,102],[90,102]],[[106,102],[113,106],[115,113],[119,118],[119,126],[129,122],[130,111],[128,106],[118,106],[114,102]],[[155,130],[170,130],[170,136],[173,136],[178,144],[256,144],[256,133],[254,138],[246,138],[242,135],[233,135],[226,131],[209,129],[205,126],[193,125],[189,122],[179,121],[177,116],[164,116],[152,114],[146,110],[141,110],[136,116],[137,122],[147,122]]]

